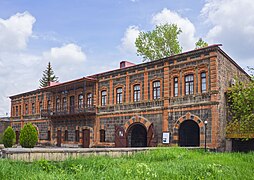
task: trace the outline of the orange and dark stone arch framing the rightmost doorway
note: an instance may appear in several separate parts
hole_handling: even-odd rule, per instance
[[[180,124],[186,120],[192,120],[194,122],[197,123],[197,125],[199,126],[199,130],[200,130],[200,145],[204,144],[204,139],[205,139],[205,124],[204,122],[200,119],[200,117],[191,114],[190,112],[186,113],[185,115],[183,115],[182,117],[180,117],[176,123],[174,124],[174,129],[173,129],[173,141],[175,143],[178,143],[179,140],[179,136],[178,136],[178,131],[180,128]]]

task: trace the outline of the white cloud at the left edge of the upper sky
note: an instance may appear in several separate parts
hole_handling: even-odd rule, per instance
[[[35,18],[29,13],[17,13],[9,19],[0,18],[0,51],[25,49],[32,35]]]

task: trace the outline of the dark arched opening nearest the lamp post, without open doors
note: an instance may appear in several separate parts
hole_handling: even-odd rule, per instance
[[[180,124],[179,146],[196,147],[200,145],[200,130],[195,121],[186,120]]]

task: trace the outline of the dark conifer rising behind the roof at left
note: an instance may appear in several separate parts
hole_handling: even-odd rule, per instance
[[[54,75],[54,71],[49,62],[47,69],[43,71],[42,78],[40,79],[40,88],[49,86],[50,82],[58,82],[58,77]]]

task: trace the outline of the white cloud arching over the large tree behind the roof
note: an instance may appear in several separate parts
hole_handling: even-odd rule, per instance
[[[152,23],[154,25],[177,24],[182,30],[182,33],[179,35],[179,42],[183,47],[183,51],[194,49],[198,38],[195,37],[195,26],[188,18],[181,17],[178,13],[164,8],[152,17]]]

